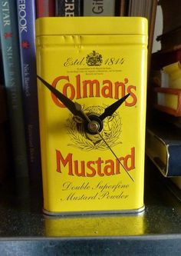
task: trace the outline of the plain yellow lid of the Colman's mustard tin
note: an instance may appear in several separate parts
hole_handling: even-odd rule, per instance
[[[36,20],[41,35],[147,35],[143,17],[44,17]]]

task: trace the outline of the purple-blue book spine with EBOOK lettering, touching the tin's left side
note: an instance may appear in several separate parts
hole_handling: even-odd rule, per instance
[[[35,53],[35,0],[17,0],[21,78],[30,179],[41,178]]]

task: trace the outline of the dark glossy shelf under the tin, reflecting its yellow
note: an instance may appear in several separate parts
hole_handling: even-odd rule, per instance
[[[6,187],[0,196],[0,255],[179,255],[181,201],[147,158],[145,177],[141,214],[50,218],[42,214],[40,188],[25,189],[22,196]]]

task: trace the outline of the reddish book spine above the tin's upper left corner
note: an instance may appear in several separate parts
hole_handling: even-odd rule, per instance
[[[52,0],[37,0],[36,1],[36,17],[54,17],[55,3]]]

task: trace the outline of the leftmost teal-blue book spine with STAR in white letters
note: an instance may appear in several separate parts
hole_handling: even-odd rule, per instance
[[[4,83],[7,94],[8,118],[12,141],[15,176],[28,176],[25,124],[21,95],[21,71],[18,48],[17,9],[15,1],[0,1],[0,31]]]

